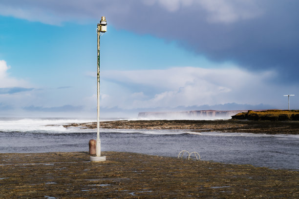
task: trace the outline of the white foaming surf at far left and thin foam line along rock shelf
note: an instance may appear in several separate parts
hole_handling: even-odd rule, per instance
[[[107,119],[113,120],[113,119]],[[70,123],[90,123],[95,119],[74,119],[74,118],[0,118],[0,132],[22,132],[22,133],[95,133],[96,129],[85,129],[81,127],[68,127]],[[144,134],[144,135],[180,135],[192,134],[197,136],[213,137],[277,137],[278,139],[299,139],[299,135],[286,134],[253,134],[253,133],[222,133],[222,132],[196,132],[184,129],[104,129],[101,133],[122,133],[122,134]]]

